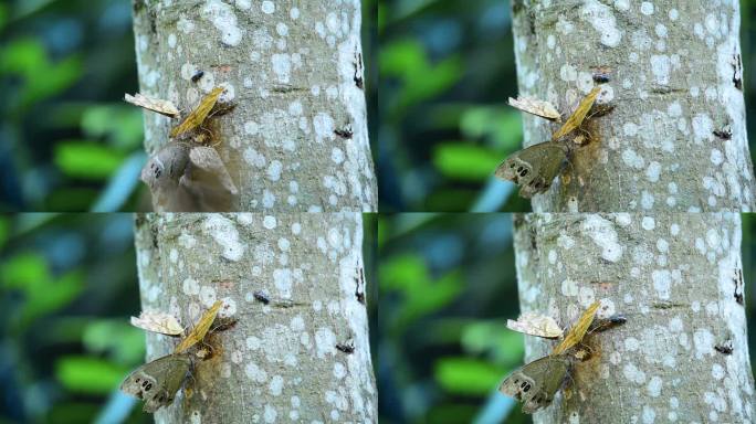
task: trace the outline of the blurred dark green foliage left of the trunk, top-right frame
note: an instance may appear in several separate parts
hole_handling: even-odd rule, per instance
[[[387,0],[378,31],[381,211],[529,210],[492,178],[522,144],[508,2]]]

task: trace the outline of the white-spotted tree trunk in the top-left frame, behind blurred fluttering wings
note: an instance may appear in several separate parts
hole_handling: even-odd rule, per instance
[[[239,190],[227,210],[377,209],[360,19],[359,0],[134,0],[141,93],[188,110],[223,86],[235,105],[213,119]],[[145,115],[150,155],[176,124]]]

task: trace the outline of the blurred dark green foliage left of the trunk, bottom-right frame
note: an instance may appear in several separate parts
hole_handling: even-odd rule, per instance
[[[491,399],[512,409],[493,395],[524,354],[505,330],[518,310],[511,215],[381,215],[378,234],[380,422],[469,423]]]

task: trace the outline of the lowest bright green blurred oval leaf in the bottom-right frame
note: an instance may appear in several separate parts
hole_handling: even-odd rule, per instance
[[[504,371],[471,358],[442,358],[433,367],[433,377],[452,394],[483,396],[502,381]]]

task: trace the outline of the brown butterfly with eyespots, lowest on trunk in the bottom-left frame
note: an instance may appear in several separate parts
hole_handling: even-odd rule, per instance
[[[168,354],[134,370],[120,384],[120,390],[144,400],[143,411],[154,413],[174,403],[190,367],[188,354]]]

